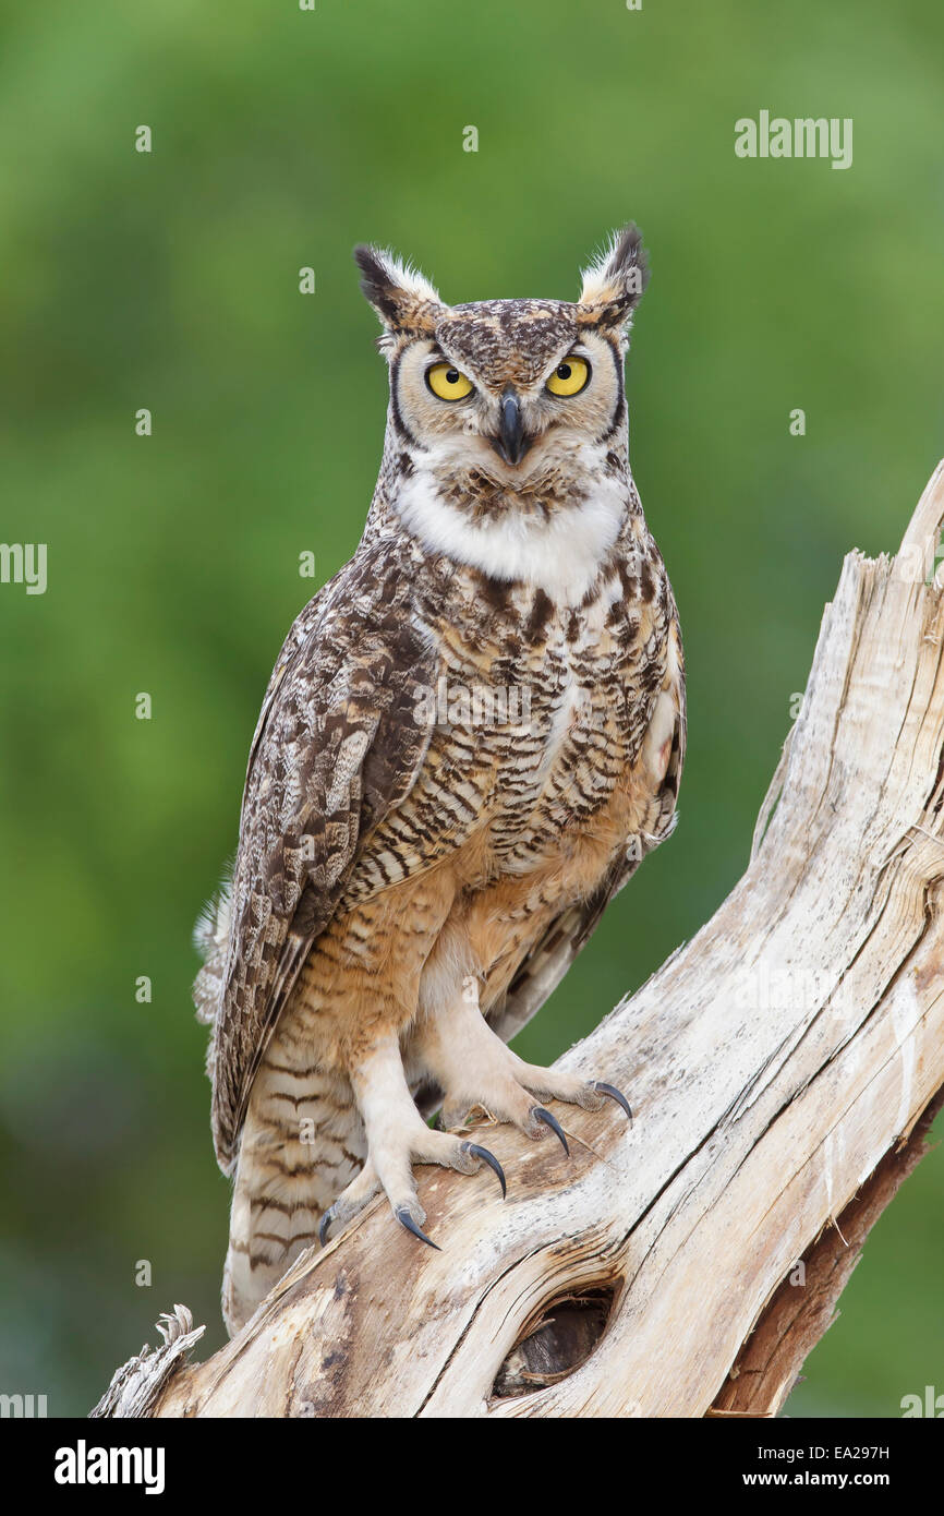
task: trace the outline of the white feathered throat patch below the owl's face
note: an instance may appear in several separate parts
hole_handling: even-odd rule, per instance
[[[509,509],[471,522],[439,494],[435,473],[420,464],[392,502],[403,525],[433,553],[479,568],[491,579],[544,590],[555,605],[577,605],[597,578],[626,515],[626,484],[600,476],[579,505],[550,518]]]

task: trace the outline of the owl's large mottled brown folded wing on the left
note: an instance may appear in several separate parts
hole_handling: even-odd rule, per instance
[[[250,749],[211,1055],[224,1170],[308,952],[364,838],[409,793],[429,746],[417,693],[435,684],[435,652],[411,620],[409,587],[385,599],[368,581],[364,568],[342,572],[302,612]]]

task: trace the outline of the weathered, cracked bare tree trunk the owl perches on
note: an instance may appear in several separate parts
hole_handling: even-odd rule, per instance
[[[747,873],[561,1060],[632,1128],[497,1129],[505,1204],[426,1170],[441,1252],[376,1202],[150,1414],[776,1414],[944,1087],[942,520],[944,464],[847,556]]]

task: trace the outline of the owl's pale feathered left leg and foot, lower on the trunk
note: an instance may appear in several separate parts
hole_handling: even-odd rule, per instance
[[[426,1211],[417,1196],[412,1172],[415,1163],[436,1163],[445,1169],[458,1169],[459,1173],[476,1173],[486,1163],[497,1173],[505,1195],[505,1173],[494,1154],[426,1125],[409,1093],[395,1035],[379,1038],[349,1073],[367,1134],[368,1155],[358,1178],[324,1213],[320,1229],[323,1243],[335,1222],[352,1220],[383,1190],[400,1225],[435,1248],[436,1243],[421,1229]]]

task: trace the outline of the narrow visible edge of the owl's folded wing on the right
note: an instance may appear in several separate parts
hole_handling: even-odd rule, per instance
[[[641,837],[627,838],[627,852],[617,858],[612,869],[594,891],[594,894],[577,905],[571,905],[555,917],[547,931],[532,944],[521,960],[515,976],[508,987],[508,994],[492,1013],[489,1025],[505,1041],[511,1041],[517,1032],[535,1016],[550,994],[558,988],[561,979],[570,969],[580,949],[589,941],[600,923],[603,911],[615,894],[627,884],[645,854],[658,847],[671,835],[676,826],[676,800],[679,781],[685,764],[685,666],[682,661],[682,640],[679,635],[674,602],[670,599],[671,638],[674,641],[677,661],[677,681],[673,685],[676,703],[676,720],[671,732],[671,749],[668,767],[662,785],[655,796],[655,820]]]

